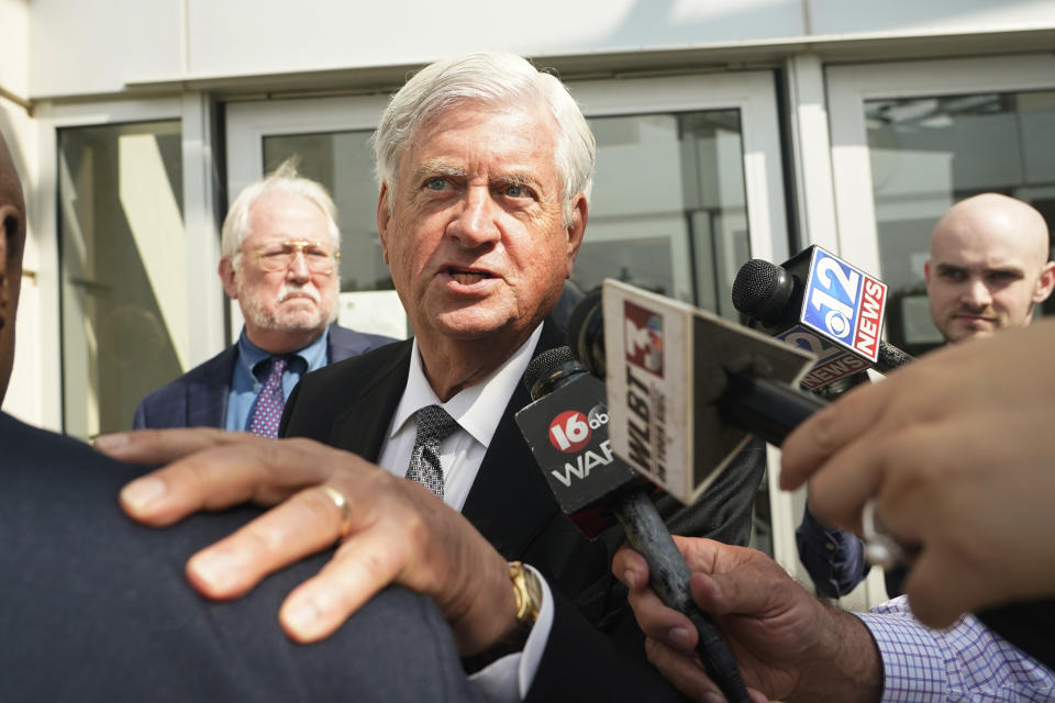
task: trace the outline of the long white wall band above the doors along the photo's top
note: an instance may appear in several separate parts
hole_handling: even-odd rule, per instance
[[[15,5],[23,5],[14,2]],[[127,83],[525,55],[1055,27],[1053,0],[34,0],[34,98]],[[512,9],[511,9],[512,8]]]

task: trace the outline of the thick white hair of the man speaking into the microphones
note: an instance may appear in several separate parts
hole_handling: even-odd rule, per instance
[[[484,105],[548,107],[556,124],[554,164],[562,181],[562,212],[571,222],[573,199],[590,200],[597,145],[586,118],[568,89],[555,76],[526,59],[503,52],[481,52],[430,64],[392,96],[374,133],[378,187],[388,183],[388,209],[395,201],[399,159],[421,126],[462,102]]]

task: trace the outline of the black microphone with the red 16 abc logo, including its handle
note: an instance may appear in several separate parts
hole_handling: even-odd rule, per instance
[[[646,483],[611,451],[604,384],[575,361],[568,347],[537,356],[524,373],[533,402],[517,424],[553,489],[560,510],[576,524],[577,513],[615,515],[626,538],[648,562],[649,582],[663,602],[696,626],[696,651],[708,676],[729,701],[747,702],[740,667],[710,616],[689,592],[690,571]]]

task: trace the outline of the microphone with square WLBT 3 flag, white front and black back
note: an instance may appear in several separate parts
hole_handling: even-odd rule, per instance
[[[812,354],[626,283],[606,280],[568,333],[587,369],[606,377],[615,455],[682,503],[751,434],[779,445],[823,406],[795,388]]]

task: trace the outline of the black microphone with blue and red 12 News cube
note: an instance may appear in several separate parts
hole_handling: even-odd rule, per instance
[[[879,339],[886,300],[884,283],[815,245],[782,266],[751,259],[733,281],[733,305],[752,326],[818,356],[802,379],[809,389],[912,360]]]

